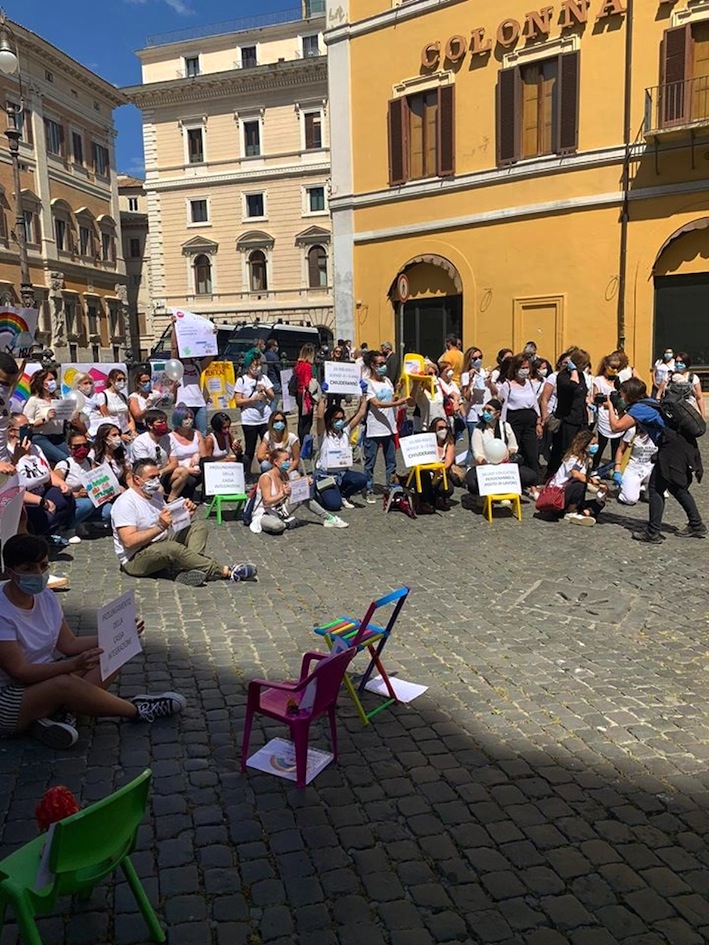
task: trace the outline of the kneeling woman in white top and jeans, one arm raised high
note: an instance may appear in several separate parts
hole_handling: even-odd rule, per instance
[[[321,505],[328,512],[353,509],[350,498],[367,487],[364,473],[352,469],[351,436],[357,430],[367,409],[366,381],[360,381],[362,396],[356,412],[349,420],[338,404],[325,406],[323,397],[316,411],[318,456],[315,462],[315,481]],[[332,480],[332,485],[329,485]],[[325,483],[328,483],[325,487]]]

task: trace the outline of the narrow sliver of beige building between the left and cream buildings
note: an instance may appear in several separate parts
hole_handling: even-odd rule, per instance
[[[153,344],[153,310],[150,301],[150,253],[148,200],[145,182],[127,174],[118,176],[123,258],[128,278],[128,324],[131,353],[144,359]]]

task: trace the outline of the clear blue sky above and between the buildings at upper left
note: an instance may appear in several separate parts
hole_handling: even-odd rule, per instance
[[[117,86],[140,82],[134,52],[147,36],[290,10],[299,0],[234,3],[233,0],[4,0],[11,20],[39,33],[72,58]],[[143,176],[140,113],[132,105],[115,112],[119,172]]]

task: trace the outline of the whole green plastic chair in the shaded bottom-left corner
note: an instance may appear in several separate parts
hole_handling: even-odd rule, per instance
[[[26,945],[42,945],[34,917],[54,910],[60,896],[87,898],[94,886],[119,866],[128,881],[150,935],[164,942],[165,933],[150,905],[130,854],[145,814],[152,772],[144,771],[130,784],[85,810],[58,821],[52,830],[46,886],[34,888],[44,846],[42,834],[0,862],[0,932],[8,905]]]

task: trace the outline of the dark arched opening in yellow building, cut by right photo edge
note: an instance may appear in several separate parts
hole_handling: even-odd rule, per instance
[[[687,351],[692,367],[709,370],[709,217],[676,230],[653,266],[653,351]]]

